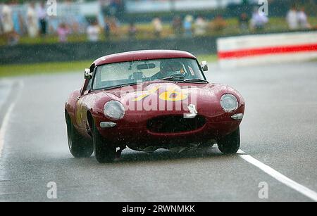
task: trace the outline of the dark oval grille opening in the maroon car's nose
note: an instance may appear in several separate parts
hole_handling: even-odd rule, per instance
[[[147,122],[150,132],[156,133],[180,133],[199,129],[206,124],[202,116],[184,118],[182,115],[166,115],[154,117]]]

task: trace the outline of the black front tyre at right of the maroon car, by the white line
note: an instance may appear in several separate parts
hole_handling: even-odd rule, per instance
[[[224,154],[237,153],[240,148],[240,127],[218,140],[218,148]]]

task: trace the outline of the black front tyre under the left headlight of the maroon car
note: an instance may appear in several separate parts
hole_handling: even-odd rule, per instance
[[[94,144],[94,155],[99,163],[111,163],[116,158],[116,148],[107,144],[106,139],[101,136],[95,124],[92,126],[92,140]]]

